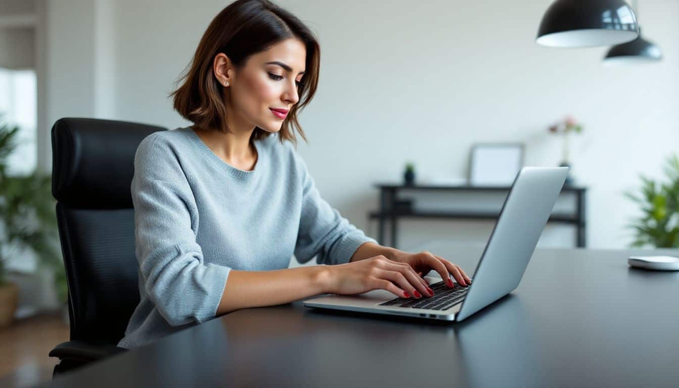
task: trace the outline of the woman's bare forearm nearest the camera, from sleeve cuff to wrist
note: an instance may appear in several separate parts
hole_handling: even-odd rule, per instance
[[[327,266],[305,266],[270,271],[231,270],[217,315],[240,308],[274,306],[324,294]]]

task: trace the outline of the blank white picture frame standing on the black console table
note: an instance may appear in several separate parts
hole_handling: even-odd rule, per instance
[[[469,185],[509,187],[523,166],[523,143],[477,143],[470,153]]]

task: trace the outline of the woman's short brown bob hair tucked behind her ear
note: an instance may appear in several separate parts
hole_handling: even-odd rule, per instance
[[[306,47],[304,79],[297,86],[299,101],[288,112],[280,128],[280,142],[297,143],[294,129],[306,141],[297,121],[297,113],[316,94],[320,68],[320,45],[314,33],[297,17],[267,0],[238,0],[225,7],[210,22],[190,67],[177,83],[181,86],[170,93],[173,106],[183,118],[201,128],[215,128],[228,133],[223,88],[213,75],[213,62],[220,52],[226,54],[235,67],[246,63],[249,56],[268,50],[280,41],[297,38]],[[251,140],[263,139],[271,133],[257,127]]]

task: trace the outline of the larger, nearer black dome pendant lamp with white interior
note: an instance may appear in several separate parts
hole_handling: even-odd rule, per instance
[[[556,0],[540,22],[536,42],[562,48],[612,46],[638,36],[634,10],[623,0]]]

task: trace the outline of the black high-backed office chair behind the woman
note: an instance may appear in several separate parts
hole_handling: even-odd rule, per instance
[[[71,340],[54,374],[124,351],[139,304],[130,184],[139,143],[160,126],[62,118],[52,126],[52,195],[69,285]]]

